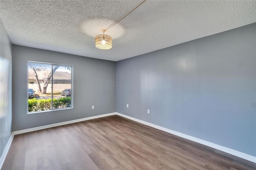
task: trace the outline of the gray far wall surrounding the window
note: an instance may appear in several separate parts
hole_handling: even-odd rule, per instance
[[[27,114],[27,61],[73,65],[74,109]],[[13,45],[12,68],[13,130],[116,111],[116,62],[114,61]]]

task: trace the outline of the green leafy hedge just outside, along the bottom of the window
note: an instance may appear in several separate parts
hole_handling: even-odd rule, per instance
[[[70,107],[71,97],[62,97],[60,99],[29,99],[28,100],[28,112],[37,112],[37,111],[48,111],[51,110],[51,103],[53,109],[61,109]]]

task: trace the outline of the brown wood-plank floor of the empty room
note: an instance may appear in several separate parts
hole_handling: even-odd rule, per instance
[[[2,170],[244,170],[256,164],[117,115],[15,135]]]

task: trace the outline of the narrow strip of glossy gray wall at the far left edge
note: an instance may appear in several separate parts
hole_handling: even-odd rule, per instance
[[[0,156],[12,134],[12,42],[0,21]]]

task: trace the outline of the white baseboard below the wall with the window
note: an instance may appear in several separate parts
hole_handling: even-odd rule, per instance
[[[86,117],[86,118],[82,118],[82,119],[76,119],[76,120],[72,120],[72,121],[54,123],[54,124],[51,124],[51,125],[45,125],[45,126],[41,126],[41,127],[27,128],[27,129],[24,129],[24,130],[14,131],[14,134],[22,134],[22,133],[27,133],[27,132],[33,132],[33,131],[36,131],[36,130],[42,130],[42,129],[51,128],[51,127],[58,127],[58,126],[61,126],[61,125],[68,125],[70,123],[82,122],[82,121],[97,119],[97,118],[100,118],[100,117],[106,117],[106,116],[111,116],[111,115],[116,115],[116,112],[107,113],[107,114],[104,114],[104,115]]]

